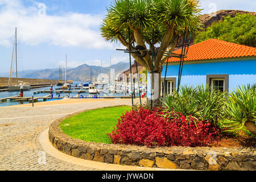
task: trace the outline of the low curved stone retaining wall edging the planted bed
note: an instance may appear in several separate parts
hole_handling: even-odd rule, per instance
[[[256,170],[255,147],[147,147],[72,139],[59,127],[65,118],[72,115],[52,123],[49,140],[58,150],[77,158],[141,167]]]

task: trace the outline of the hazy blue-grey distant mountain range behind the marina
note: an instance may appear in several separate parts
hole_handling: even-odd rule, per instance
[[[119,62],[117,64],[113,64],[111,69],[115,69],[115,74],[121,73],[124,70],[129,68],[129,63]],[[68,68],[67,69],[67,80],[73,81],[84,81],[90,80],[90,77],[97,78],[101,73],[100,66],[82,64],[76,68]],[[110,67],[102,67],[102,73],[107,75],[110,74]],[[63,80],[65,77],[65,70],[63,70]],[[43,69],[36,72],[28,73],[24,75],[24,78],[40,78],[40,79],[54,79],[59,80],[59,69]]]

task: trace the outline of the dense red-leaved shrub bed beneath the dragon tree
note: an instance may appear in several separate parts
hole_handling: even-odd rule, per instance
[[[218,140],[218,129],[192,115],[169,113],[160,108],[126,111],[116,129],[108,134],[112,143],[147,146],[209,146]]]

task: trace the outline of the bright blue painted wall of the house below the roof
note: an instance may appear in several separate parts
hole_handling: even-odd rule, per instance
[[[166,66],[163,67],[164,77]],[[256,60],[184,64],[180,85],[205,85],[207,75],[229,75],[229,91],[238,85],[256,82]],[[168,65],[166,77],[178,77],[179,65]],[[177,82],[176,82],[177,86]]]

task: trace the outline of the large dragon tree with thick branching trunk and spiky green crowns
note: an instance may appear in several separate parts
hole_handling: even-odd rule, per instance
[[[197,29],[201,10],[197,0],[114,0],[107,11],[101,26],[105,40],[119,42],[127,49],[130,40],[131,50],[139,50],[131,56],[149,73],[160,75],[167,60],[164,51],[174,51],[186,31]],[[141,51],[145,49],[154,54]],[[160,93],[161,76],[158,79],[154,90]],[[151,84],[155,85],[154,82],[153,76]],[[159,104],[159,98],[160,94],[154,105]]]

